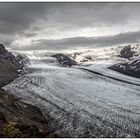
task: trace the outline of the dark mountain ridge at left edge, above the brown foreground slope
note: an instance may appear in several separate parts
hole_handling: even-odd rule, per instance
[[[21,54],[14,56],[0,44],[0,87],[13,81],[19,74],[24,74],[22,69],[27,63],[29,59],[26,56]]]

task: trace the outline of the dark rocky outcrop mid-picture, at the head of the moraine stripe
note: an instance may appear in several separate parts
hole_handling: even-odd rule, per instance
[[[65,54],[55,54],[52,57],[55,57],[57,61],[62,64],[63,66],[69,66],[71,67],[72,65],[77,65],[77,62],[72,60],[68,55]]]

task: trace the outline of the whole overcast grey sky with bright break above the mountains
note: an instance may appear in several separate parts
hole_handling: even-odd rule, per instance
[[[140,3],[0,3],[0,41],[17,49],[139,42]]]

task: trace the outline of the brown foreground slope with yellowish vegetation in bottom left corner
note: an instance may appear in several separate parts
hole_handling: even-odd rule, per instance
[[[0,137],[55,137],[42,112],[0,90]]]

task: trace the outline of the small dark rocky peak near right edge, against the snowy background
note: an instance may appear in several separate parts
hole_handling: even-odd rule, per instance
[[[125,46],[121,51],[119,57],[129,59],[133,57],[135,54],[135,51],[132,50],[131,45]]]

